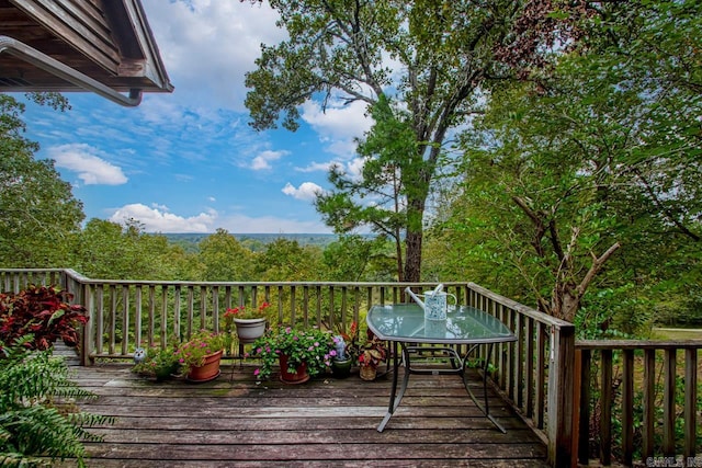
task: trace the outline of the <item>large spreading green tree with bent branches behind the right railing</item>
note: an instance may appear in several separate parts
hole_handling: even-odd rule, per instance
[[[691,2],[610,8],[627,11],[584,23],[589,50],[492,91],[464,140],[466,183],[441,233],[465,249],[463,265],[486,277],[490,265],[545,311],[574,320],[584,300],[586,311],[608,307],[603,327],[618,309],[629,326],[649,318],[650,300],[648,313],[632,305],[646,289],[660,300],[653,285],[679,293],[700,277],[700,72],[671,64],[700,62],[702,12]]]

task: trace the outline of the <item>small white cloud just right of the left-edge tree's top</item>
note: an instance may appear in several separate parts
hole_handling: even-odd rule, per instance
[[[128,180],[121,168],[103,159],[102,152],[90,145],[59,145],[47,152],[56,167],[78,173],[86,185],[122,185]]]

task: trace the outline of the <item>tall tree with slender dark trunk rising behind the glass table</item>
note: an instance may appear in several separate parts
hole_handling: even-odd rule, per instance
[[[389,199],[403,207],[356,209],[359,201],[351,196],[335,196],[324,205],[349,213],[347,222],[330,218],[339,232],[365,221],[398,237],[404,221],[405,261],[398,276],[419,281],[427,198],[446,136],[467,122],[488,77],[499,75],[492,50],[508,41],[521,2],[273,0],[271,5],[280,11],[290,39],[262,46],[258,69],[247,75],[247,87],[253,89],[246,100],[252,126],[274,128],[281,121],[294,130],[301,104],[320,95],[331,99],[337,91],[347,103],[373,105],[381,96],[401,103],[404,112],[376,109],[385,115],[362,149],[366,163],[380,160],[365,174],[376,179],[360,184],[358,196],[384,184],[390,187]],[[398,129],[403,138],[397,146],[382,149],[378,141],[387,144]]]

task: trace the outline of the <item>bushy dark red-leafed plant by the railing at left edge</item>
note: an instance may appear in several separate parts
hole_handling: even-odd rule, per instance
[[[70,305],[72,295],[53,286],[31,285],[18,294],[0,294],[0,342],[11,344],[33,335],[26,346],[47,350],[56,340],[77,346],[79,326],[88,322],[86,308]]]

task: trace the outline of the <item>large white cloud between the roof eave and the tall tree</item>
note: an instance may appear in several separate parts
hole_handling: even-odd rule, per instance
[[[193,107],[244,111],[244,75],[256,68],[260,44],[278,44],[287,34],[265,2],[147,0],[144,8],[173,98]]]

